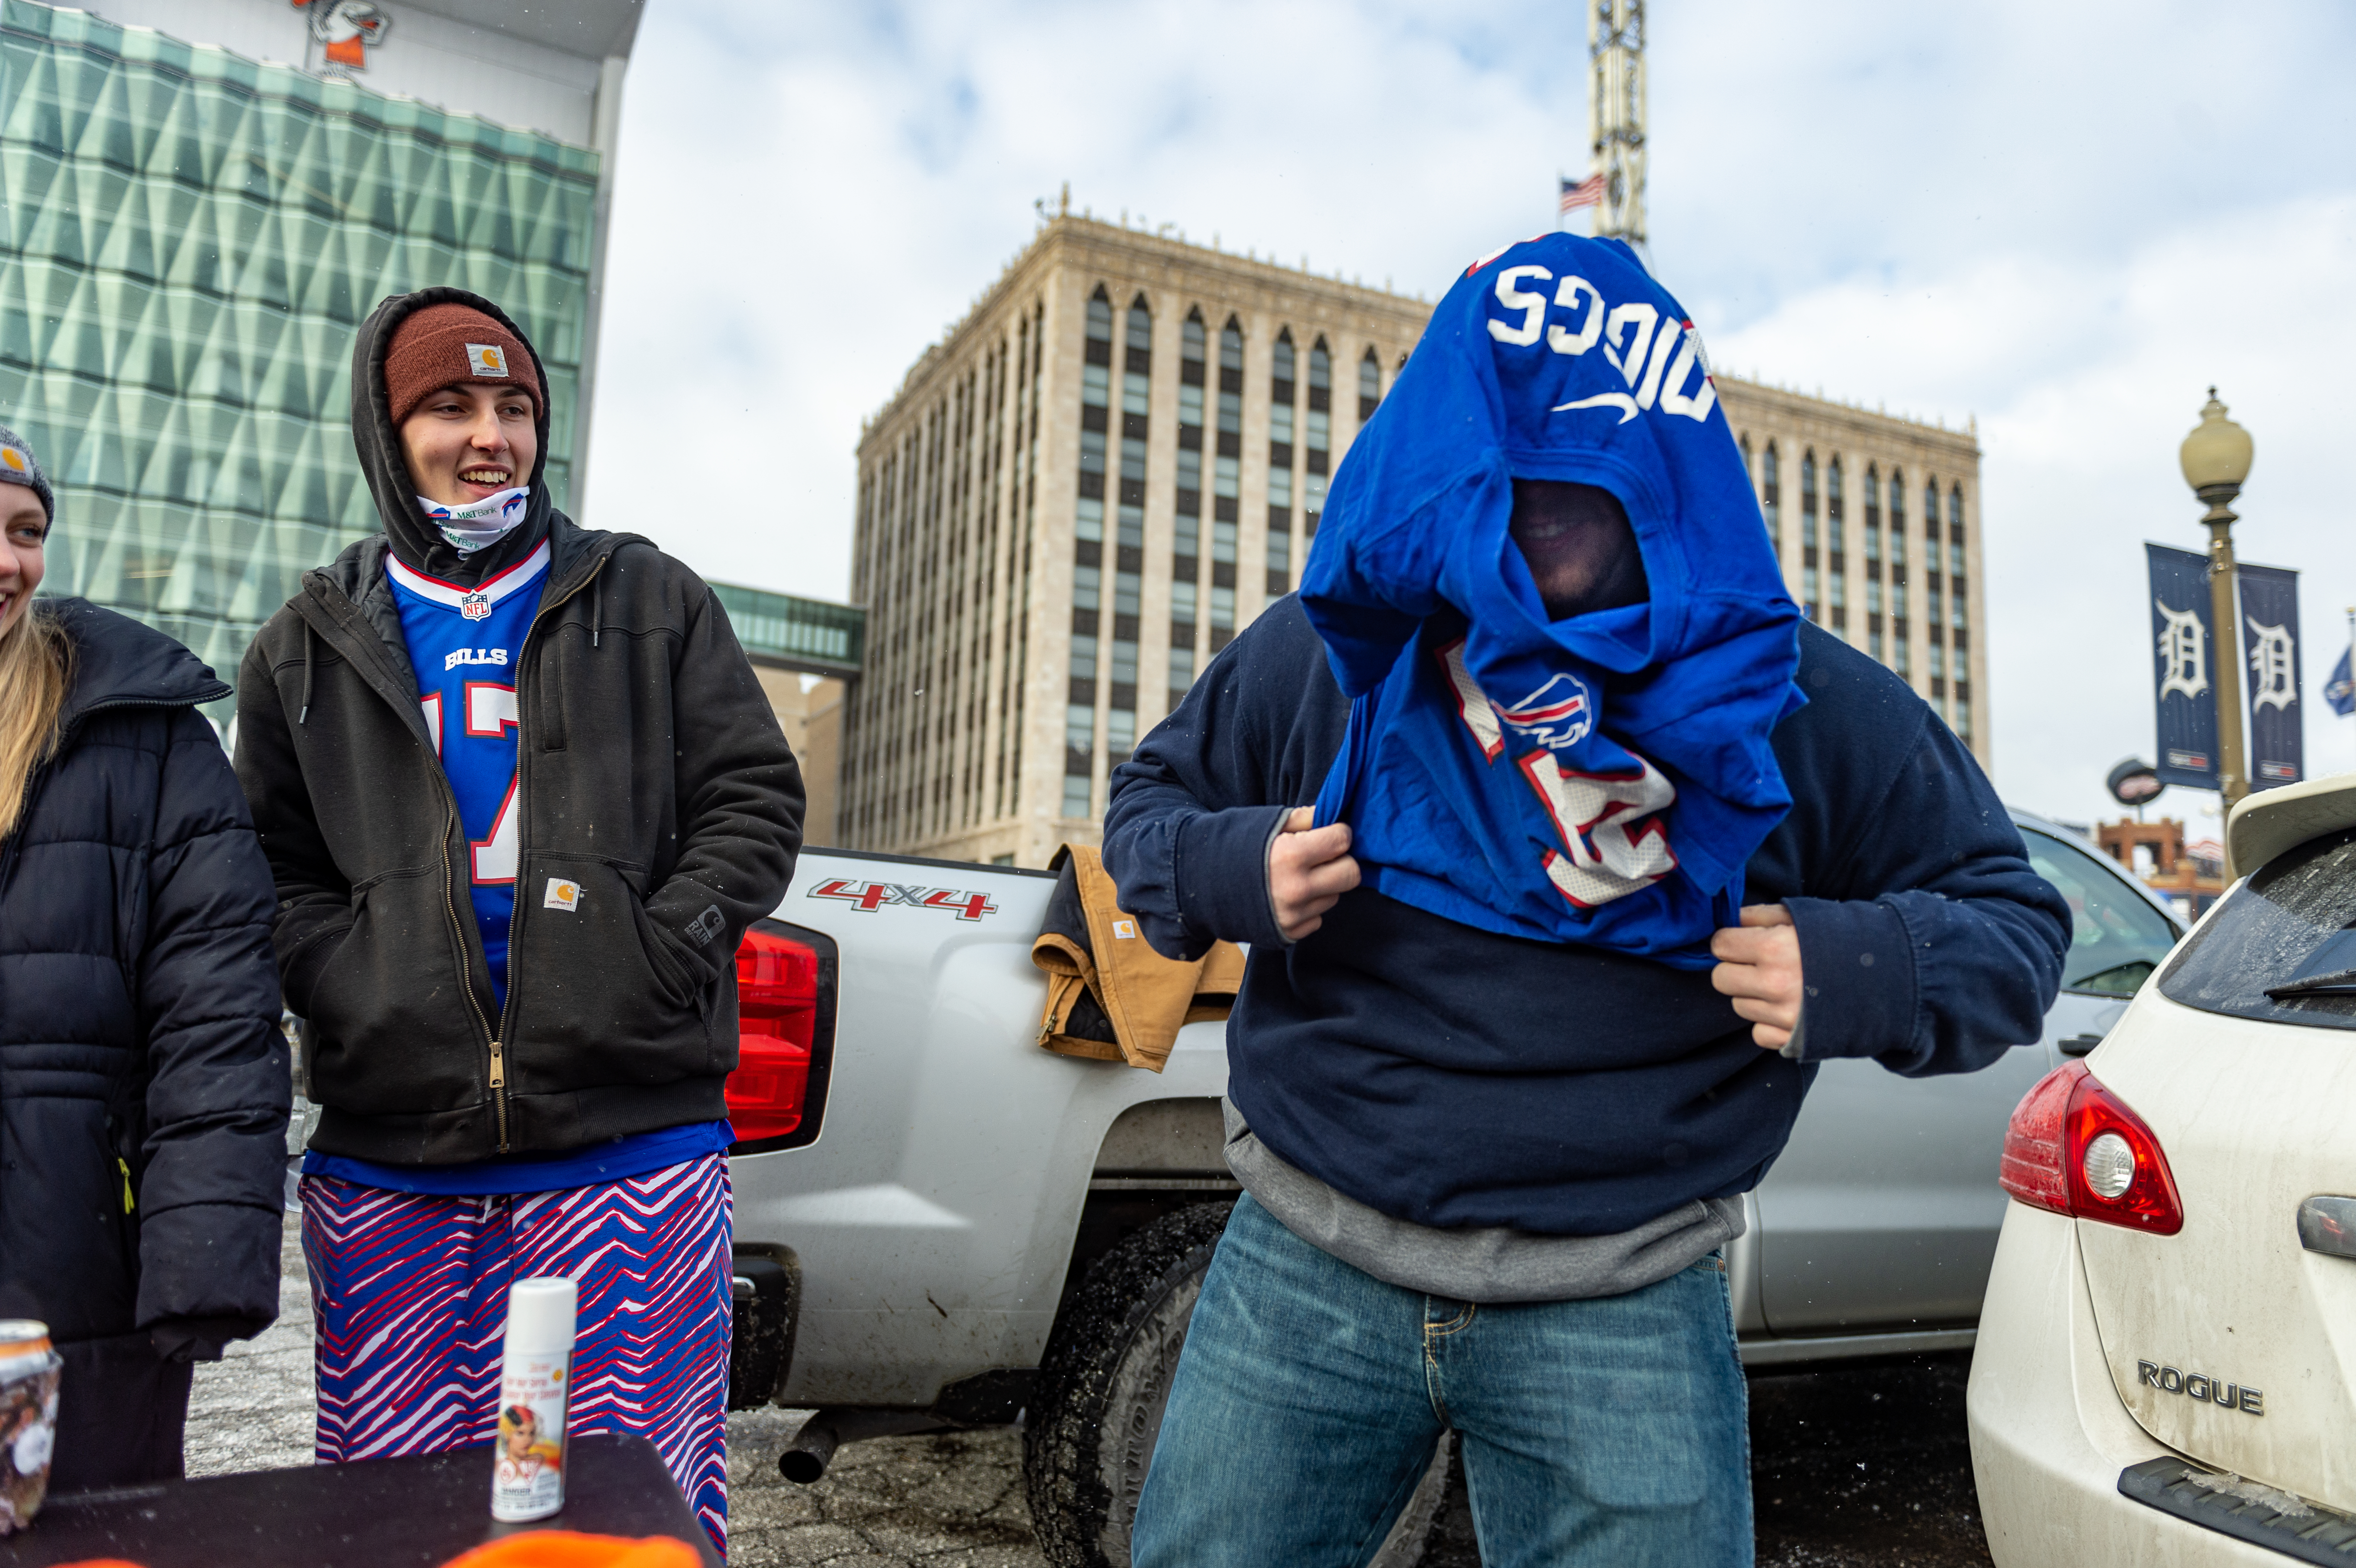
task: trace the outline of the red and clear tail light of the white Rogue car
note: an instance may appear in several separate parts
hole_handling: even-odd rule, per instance
[[[2031,1208],[2175,1236],[2184,1203],[2160,1140],[2102,1085],[2066,1062],[2021,1095],[2005,1128],[1996,1184]]]

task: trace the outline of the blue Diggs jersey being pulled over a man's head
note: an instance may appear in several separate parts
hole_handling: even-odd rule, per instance
[[[1513,480],[1619,497],[1649,600],[1560,622]],[[1484,257],[1350,445],[1301,607],[1352,699],[1317,819],[1463,925],[1706,968],[1791,793],[1800,612],[1701,339],[1619,240]]]

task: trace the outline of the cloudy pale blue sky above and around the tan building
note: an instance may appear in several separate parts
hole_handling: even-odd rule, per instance
[[[648,0],[584,516],[843,598],[860,419],[1037,198],[1437,297],[1586,172],[1581,16]],[[2241,556],[2304,570],[2309,772],[2356,768],[2318,697],[2356,605],[2356,9],[1654,0],[1647,59],[1654,266],[1713,358],[1979,421],[2005,796],[2116,815],[2102,775],[2151,753],[2142,542],[2203,546],[2175,452],[2212,381],[2257,440]]]

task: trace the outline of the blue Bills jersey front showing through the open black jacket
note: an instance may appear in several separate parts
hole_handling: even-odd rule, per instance
[[[401,636],[417,671],[417,702],[466,829],[474,923],[490,984],[507,1012],[507,928],[516,913],[516,664],[549,582],[549,546],[476,589],[384,558],[401,605]],[[497,1019],[492,1019],[497,1022]]]

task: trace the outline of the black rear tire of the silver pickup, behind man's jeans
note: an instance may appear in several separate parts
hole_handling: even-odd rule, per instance
[[[1183,1208],[1105,1253],[1048,1337],[1025,1417],[1023,1481],[1039,1549],[1055,1568],[1129,1568],[1138,1490],[1227,1208]],[[1451,1448],[1442,1436],[1369,1568],[1423,1561]]]

